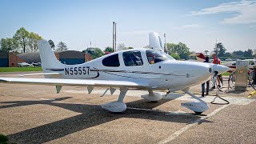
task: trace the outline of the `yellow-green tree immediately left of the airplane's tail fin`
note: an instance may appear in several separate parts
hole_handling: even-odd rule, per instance
[[[42,40],[42,37],[38,34],[30,32],[28,46],[26,48],[27,52],[38,51],[38,40]]]

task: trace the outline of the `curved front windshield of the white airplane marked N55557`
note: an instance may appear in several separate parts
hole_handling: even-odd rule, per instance
[[[150,64],[174,59],[170,55],[158,50],[146,50],[146,57]]]

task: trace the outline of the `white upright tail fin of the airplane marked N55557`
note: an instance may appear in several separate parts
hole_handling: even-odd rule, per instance
[[[39,54],[42,62],[42,69],[64,68],[64,64],[58,61],[54,52],[46,40],[38,41]]]

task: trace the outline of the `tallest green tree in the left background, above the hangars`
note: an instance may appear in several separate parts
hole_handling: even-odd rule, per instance
[[[18,45],[22,47],[23,53],[25,53],[26,46],[28,45],[30,33],[24,28],[20,28],[14,34],[14,39],[18,42]]]

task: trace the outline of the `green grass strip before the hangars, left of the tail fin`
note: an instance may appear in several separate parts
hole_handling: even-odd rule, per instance
[[[1,72],[19,72],[19,71],[42,71],[41,66],[27,66],[27,67],[0,67]]]

